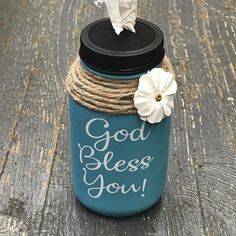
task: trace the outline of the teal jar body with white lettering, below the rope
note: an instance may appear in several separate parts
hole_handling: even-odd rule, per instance
[[[171,118],[92,111],[69,98],[73,190],[89,209],[122,217],[151,207],[165,187]]]

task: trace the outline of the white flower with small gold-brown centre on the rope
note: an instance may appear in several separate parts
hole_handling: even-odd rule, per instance
[[[150,123],[160,122],[171,115],[177,84],[173,74],[162,68],[154,68],[139,79],[134,94],[134,106],[140,118]]]

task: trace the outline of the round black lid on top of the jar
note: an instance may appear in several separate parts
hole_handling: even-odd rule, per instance
[[[135,30],[117,35],[109,18],[89,24],[81,32],[81,60],[98,72],[114,75],[143,73],[159,65],[165,54],[161,29],[136,19]]]

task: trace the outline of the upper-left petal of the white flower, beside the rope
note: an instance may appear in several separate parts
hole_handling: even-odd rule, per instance
[[[140,95],[151,97],[155,93],[155,87],[148,74],[142,75],[139,79],[138,91]]]

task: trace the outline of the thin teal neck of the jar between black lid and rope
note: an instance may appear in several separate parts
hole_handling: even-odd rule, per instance
[[[96,70],[94,70],[93,68],[91,68],[89,65],[87,65],[82,59],[80,59],[80,64],[89,72],[101,76],[103,78],[107,78],[107,79],[118,79],[118,80],[132,80],[132,79],[137,79],[140,78],[142,75],[146,74],[144,73],[138,73],[138,74],[132,74],[132,75],[111,75],[111,74],[105,74],[105,73],[101,73],[98,72]],[[155,68],[159,68],[162,66],[162,63],[157,65]]]

